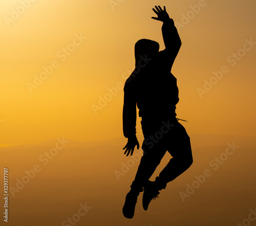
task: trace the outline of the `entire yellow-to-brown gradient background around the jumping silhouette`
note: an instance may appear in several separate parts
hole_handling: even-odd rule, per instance
[[[2,0],[0,5],[1,167],[9,169],[9,186],[14,188],[25,170],[38,164],[41,171],[9,196],[9,225],[62,225],[85,202],[92,209],[76,225],[235,225],[255,210],[256,47],[234,65],[227,61],[245,39],[256,41],[255,2],[203,1],[205,7],[194,16],[190,12],[184,25],[184,15],[202,1],[126,0],[111,6],[108,0],[38,0],[8,24],[6,17],[21,2]],[[147,212],[138,200],[129,220],[121,209],[139,162],[117,179],[114,171],[133,160],[122,151],[122,89],[97,114],[92,106],[109,94],[108,88],[123,86],[134,69],[138,39],[156,40],[164,49],[162,22],[151,19],[155,5],[165,5],[179,27],[182,47],[172,69],[180,91],[176,112],[188,121],[182,124],[195,161]],[[61,61],[57,53],[76,34],[87,38]],[[58,67],[31,93],[27,83],[52,60]],[[223,65],[228,73],[200,96],[198,88]],[[140,119],[137,124],[142,144]],[[44,165],[39,156],[62,137],[69,143]],[[213,170],[209,161],[232,142],[239,151]],[[205,169],[212,175],[182,202],[179,191]],[[2,173],[1,181],[3,185]]]

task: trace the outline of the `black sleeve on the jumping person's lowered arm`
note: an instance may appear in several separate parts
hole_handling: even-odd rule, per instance
[[[135,95],[131,89],[124,86],[123,135],[125,138],[136,138],[136,118],[137,111]]]

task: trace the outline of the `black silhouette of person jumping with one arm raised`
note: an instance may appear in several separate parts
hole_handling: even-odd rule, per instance
[[[135,44],[135,70],[124,85],[123,133],[128,138],[124,154],[133,154],[139,149],[136,137],[136,104],[144,135],[141,157],[131,191],[126,195],[123,215],[133,218],[137,197],[144,191],[142,205],[147,210],[152,199],[166,184],[193,163],[190,139],[185,128],[176,119],[176,104],[179,101],[177,80],[170,73],[181,47],[181,40],[173,19],[160,6],[153,11],[163,22],[162,34],[165,49],[159,52],[156,41],[141,39]],[[169,163],[156,177],[149,179],[168,151],[172,155]]]

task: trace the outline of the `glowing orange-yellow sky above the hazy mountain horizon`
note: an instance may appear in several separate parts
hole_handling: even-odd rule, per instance
[[[134,44],[148,38],[164,49],[162,22],[151,19],[156,4],[179,27],[182,47],[172,72],[177,117],[188,121],[187,132],[256,135],[255,2],[45,0],[26,8],[22,2],[0,6],[1,145],[122,137],[122,86],[135,63]],[[50,72],[51,64],[46,75],[43,67]],[[211,78],[221,69],[221,79]],[[29,90],[40,74],[47,78]],[[202,93],[209,81],[216,84]],[[95,114],[92,105],[116,85],[117,94]]]

